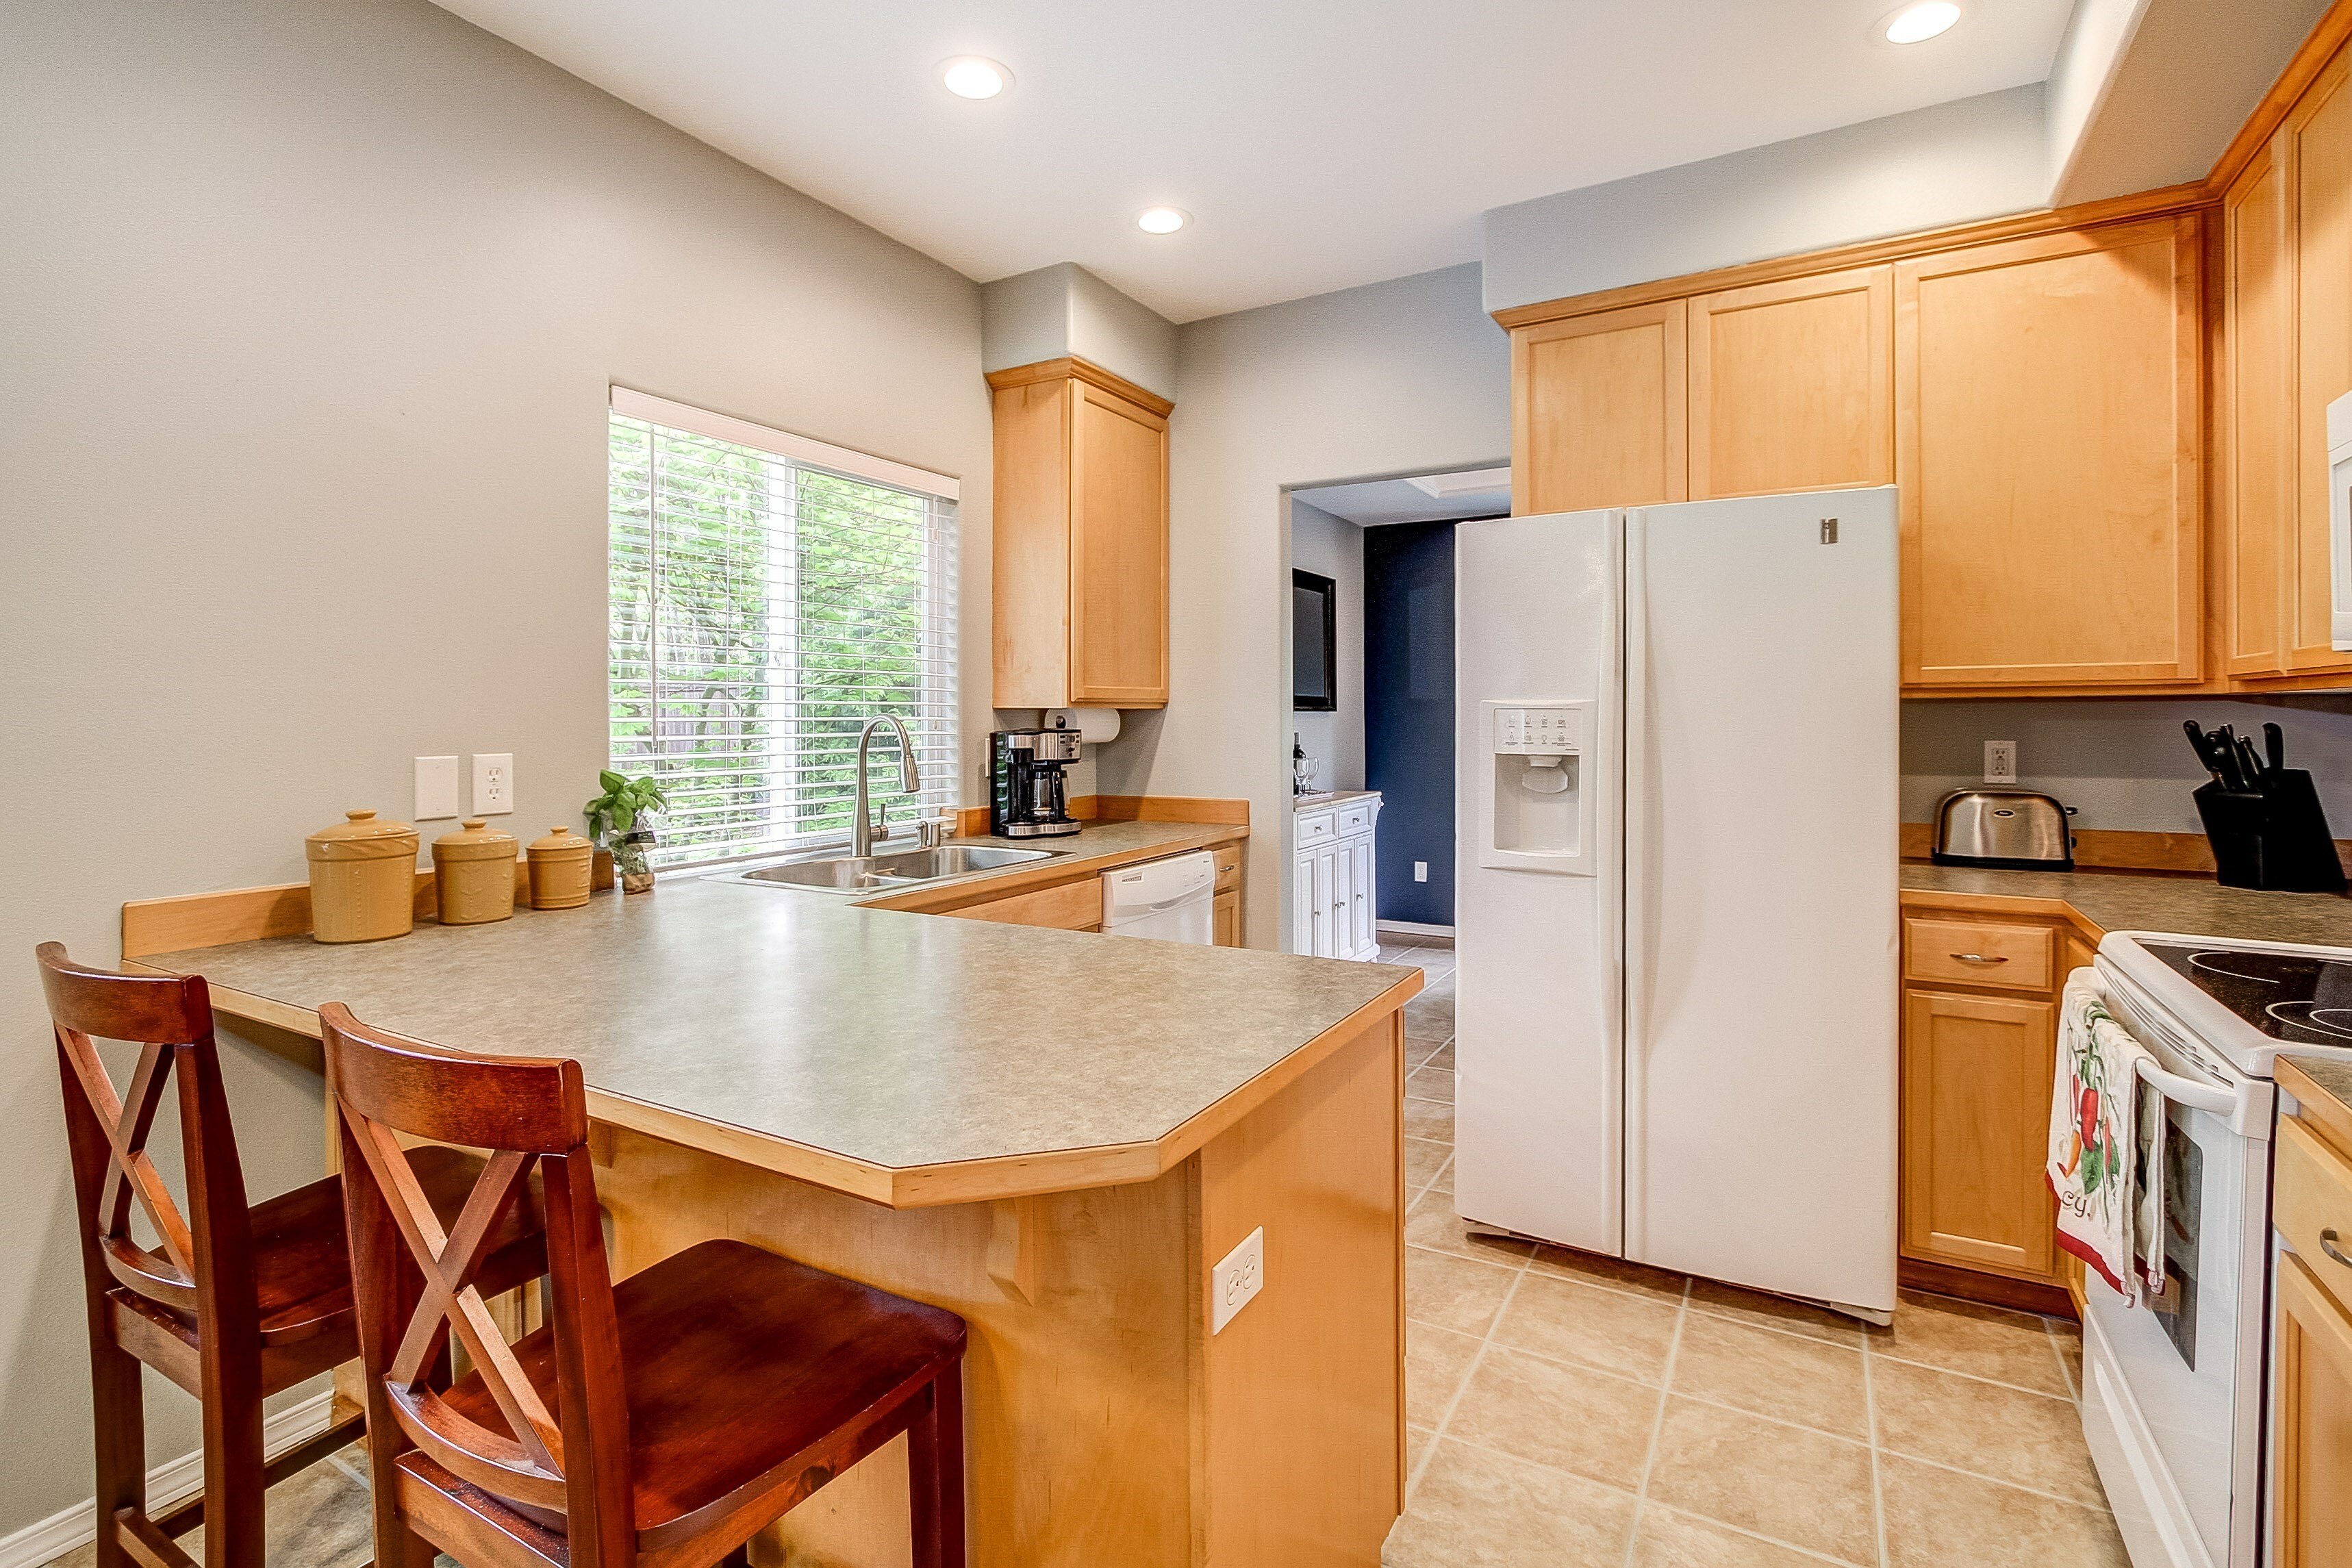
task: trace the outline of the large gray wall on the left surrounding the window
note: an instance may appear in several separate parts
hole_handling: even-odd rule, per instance
[[[513,750],[510,825],[576,823],[607,378],[964,477],[976,762],[988,397],[971,282],[426,0],[0,7],[0,146],[7,1535],[89,1497],[33,943],[299,879],[416,752]],[[318,1175],[315,1079],[226,1053],[254,1197]]]

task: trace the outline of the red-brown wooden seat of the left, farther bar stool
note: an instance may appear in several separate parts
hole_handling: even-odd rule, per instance
[[[466,1150],[419,1145],[409,1150],[409,1171],[416,1173],[416,1185],[433,1201],[433,1213],[449,1227],[456,1225],[466,1194],[482,1175],[482,1159]],[[482,1279],[487,1295],[510,1291],[546,1269],[539,1237],[546,1220],[539,1192],[534,1173],[529,1194],[499,1220],[501,1239]],[[350,1239],[343,1232],[343,1178],[329,1175],[308,1187],[280,1192],[266,1204],[254,1204],[252,1225],[261,1342],[294,1345],[329,1331],[355,1333]],[[172,1319],[181,1326],[181,1338],[195,1345],[195,1314],[174,1312]],[[360,1354],[358,1342],[353,1342],[350,1354]]]

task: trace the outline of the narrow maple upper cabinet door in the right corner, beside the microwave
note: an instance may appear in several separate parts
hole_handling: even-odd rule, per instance
[[[2293,512],[2293,275],[2286,174],[2265,148],[2223,202],[2223,661],[2230,675],[2284,668],[2284,569]]]

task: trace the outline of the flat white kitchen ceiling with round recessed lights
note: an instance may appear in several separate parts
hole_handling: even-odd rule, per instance
[[[1169,320],[1479,254],[1479,214],[2049,75],[2072,0],[440,0],[988,282]],[[1011,66],[971,103],[953,54]],[[1150,205],[1195,214],[1152,237]]]

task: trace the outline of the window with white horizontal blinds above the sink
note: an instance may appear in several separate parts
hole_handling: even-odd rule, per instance
[[[849,832],[858,729],[957,783],[955,480],[612,390],[612,769],[670,806],[661,865]],[[873,797],[906,820],[898,741]]]

